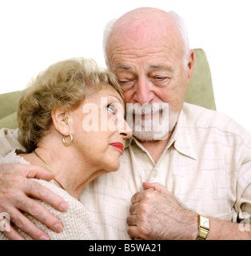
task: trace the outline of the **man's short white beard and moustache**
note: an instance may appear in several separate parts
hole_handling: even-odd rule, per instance
[[[141,114],[153,116],[142,119]],[[177,123],[178,113],[169,111],[169,104],[149,103],[140,105],[126,104],[126,122],[133,130],[133,135],[141,142],[164,140],[168,138]]]

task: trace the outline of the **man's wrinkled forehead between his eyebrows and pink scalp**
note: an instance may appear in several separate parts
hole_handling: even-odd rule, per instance
[[[129,70],[133,64],[140,62],[152,69],[170,69],[168,62],[180,58],[181,44],[181,40],[174,37],[158,35],[141,39],[140,36],[126,38],[124,34],[110,43],[106,54],[112,70]]]

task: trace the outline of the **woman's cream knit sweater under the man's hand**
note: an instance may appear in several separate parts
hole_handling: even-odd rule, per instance
[[[26,165],[30,165],[30,162],[26,162],[24,158],[19,157],[15,150],[11,151],[10,154],[7,154],[4,158],[0,156],[0,163],[22,163]],[[54,182],[46,182],[44,180],[39,180],[33,178],[35,182],[38,182],[42,186],[46,186],[52,190],[55,194],[61,196],[68,204],[68,210],[66,212],[61,212],[55,210],[52,206],[37,200],[45,206],[46,209],[50,210],[52,214],[54,214],[57,218],[59,218],[63,223],[63,230],[60,233],[56,233],[41,222],[38,222],[37,219],[33,218],[32,216],[26,214],[28,218],[32,222],[34,222],[41,230],[44,230],[49,236],[51,240],[91,240],[96,239],[94,233],[94,227],[90,222],[90,217],[85,206],[82,205],[77,199],[73,198],[68,194],[65,190],[62,190],[58,186],[54,184]],[[11,221],[11,216],[10,216]],[[15,228],[18,230],[20,234],[26,239],[31,239],[27,234],[24,234],[22,230],[19,230],[16,226]],[[6,236],[0,232],[0,240],[6,240]]]

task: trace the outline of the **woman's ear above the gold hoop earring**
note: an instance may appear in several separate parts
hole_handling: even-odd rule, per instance
[[[62,108],[51,110],[51,118],[55,130],[57,130],[59,134],[67,135],[69,133],[70,116],[66,110]]]

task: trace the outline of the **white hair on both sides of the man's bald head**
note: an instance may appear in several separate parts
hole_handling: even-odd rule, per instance
[[[176,12],[174,12],[173,10],[170,10],[168,12],[171,17],[173,18],[174,22],[177,25],[177,29],[179,30],[179,32],[181,33],[181,38],[184,42],[184,66],[186,67],[188,61],[189,61],[189,51],[190,51],[190,47],[189,47],[189,37],[188,37],[188,33],[187,33],[187,29],[185,26],[185,21],[183,18],[181,18],[181,16],[179,16]],[[118,18],[114,18],[112,20],[110,20],[110,22],[107,22],[104,32],[103,32],[103,51],[104,51],[104,56],[105,56],[105,60],[106,60],[106,65],[108,66],[108,61],[107,61],[107,56],[106,56],[106,42],[107,39],[110,36],[110,32],[114,27],[115,22],[118,20]]]

